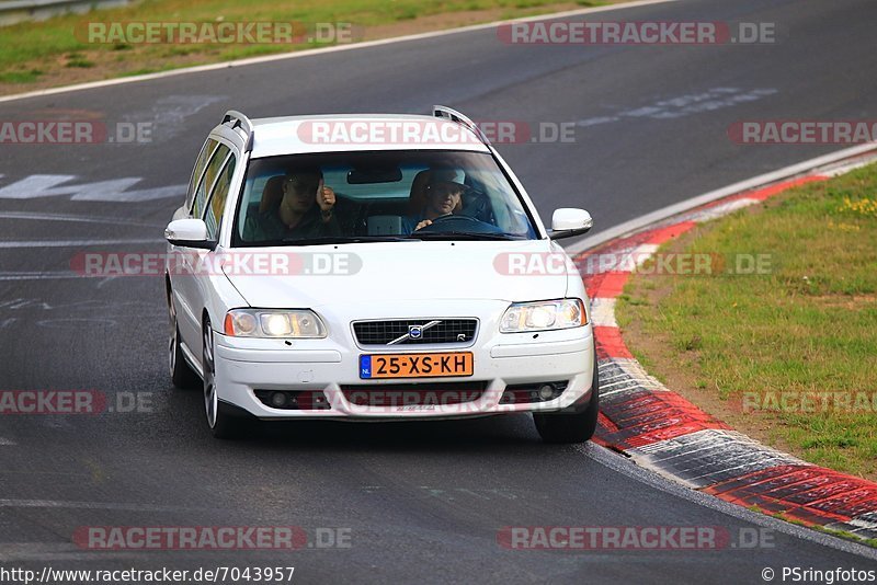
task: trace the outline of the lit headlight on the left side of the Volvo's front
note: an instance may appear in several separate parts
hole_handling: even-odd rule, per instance
[[[307,309],[232,309],[226,313],[224,329],[235,337],[326,337],[322,321]]]

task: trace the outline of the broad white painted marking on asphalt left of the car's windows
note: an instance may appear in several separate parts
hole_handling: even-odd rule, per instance
[[[143,181],[139,176],[96,181],[79,185],[62,185],[77,179],[72,174],[34,174],[0,188],[0,199],[35,199],[69,195],[80,202],[145,202],[166,197],[182,197],[186,185],[128,191]],[[59,186],[62,185],[62,186]]]

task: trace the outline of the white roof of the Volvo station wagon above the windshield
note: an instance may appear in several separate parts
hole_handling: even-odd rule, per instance
[[[252,158],[308,152],[490,149],[466,126],[434,116],[342,114],[253,118]]]

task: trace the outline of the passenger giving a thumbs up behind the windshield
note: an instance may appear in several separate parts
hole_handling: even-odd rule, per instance
[[[283,196],[275,208],[247,218],[243,232],[248,240],[307,240],[341,234],[333,214],[335,193],[323,184],[319,169],[287,172],[283,177],[282,192]]]

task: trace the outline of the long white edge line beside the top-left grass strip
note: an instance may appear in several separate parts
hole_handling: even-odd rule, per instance
[[[368,48],[368,47],[378,47],[383,45],[395,45],[397,43],[407,43],[410,41],[421,41],[424,38],[437,38],[442,36],[459,34],[459,33],[468,33],[472,31],[483,31],[486,28],[492,28],[494,26],[499,26],[500,24],[508,24],[512,22],[536,22],[536,21],[547,21],[547,20],[555,20],[555,19],[562,19],[566,16],[576,16],[579,14],[593,14],[596,12],[610,12],[615,10],[626,10],[630,8],[637,7],[646,7],[652,4],[665,4],[669,2],[675,2],[676,0],[637,0],[635,2],[626,2],[623,4],[611,4],[606,7],[592,7],[592,8],[581,8],[576,10],[568,10],[566,12],[555,12],[554,14],[539,14],[537,16],[527,16],[524,19],[510,19],[504,21],[493,21],[488,22],[485,24],[472,24],[469,26],[460,26],[459,28],[451,28],[448,31],[432,31],[429,33],[418,33],[413,35],[406,35],[406,36],[397,36],[392,38],[379,38],[377,41],[365,41],[363,43],[354,43],[351,45],[334,45],[331,47],[324,48],[315,48],[315,49],[307,49],[307,50],[297,50],[294,53],[282,53],[280,55],[266,55],[264,57],[250,57],[248,59],[238,59],[234,61],[223,61],[217,64],[210,65],[201,65],[197,67],[185,67],[181,69],[173,69],[171,71],[161,71],[159,73],[148,73],[145,76],[132,76],[127,78],[121,79],[107,79],[104,81],[91,81],[89,83],[79,83],[76,85],[67,85],[64,88],[52,88],[47,90],[36,90],[36,91],[29,91],[25,93],[18,93],[14,95],[5,95],[0,97],[0,102],[11,102],[13,100],[24,100],[26,97],[36,97],[39,95],[52,95],[55,93],[66,93],[68,91],[80,91],[80,90],[90,90],[94,88],[105,88],[107,85],[119,85],[122,83],[133,83],[135,81],[148,81],[152,79],[163,79],[167,77],[172,76],[182,76],[187,73],[198,73],[202,71],[215,71],[217,69],[228,69],[230,67],[246,67],[248,65],[259,65],[264,62],[272,62],[272,61],[281,61],[286,59],[297,59],[301,57],[311,57],[314,55],[324,55],[329,53],[338,53],[341,50],[356,50],[361,48]]]

